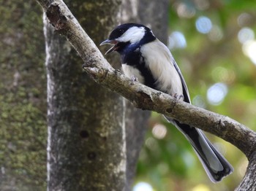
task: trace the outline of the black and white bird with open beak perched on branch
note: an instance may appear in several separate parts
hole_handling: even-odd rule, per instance
[[[138,82],[190,104],[189,91],[170,50],[154,36],[150,28],[126,23],[117,26],[102,44],[113,44],[105,54],[121,55],[124,74]],[[197,128],[165,117],[184,134],[203,164],[212,182],[219,182],[233,172],[233,167]]]

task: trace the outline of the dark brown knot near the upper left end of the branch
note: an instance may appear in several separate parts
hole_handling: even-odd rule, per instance
[[[59,4],[50,4],[46,11],[50,24],[52,24],[57,31],[67,28],[67,17],[61,14]]]

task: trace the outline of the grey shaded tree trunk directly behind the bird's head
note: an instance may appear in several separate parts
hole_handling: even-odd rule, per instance
[[[157,12],[156,9],[161,9],[161,12]],[[150,26],[159,39],[167,43],[167,9],[167,0],[122,1],[121,23],[135,22]],[[129,101],[126,102],[127,191],[131,190],[135,177],[136,164],[143,146],[150,114],[151,112],[135,108]]]

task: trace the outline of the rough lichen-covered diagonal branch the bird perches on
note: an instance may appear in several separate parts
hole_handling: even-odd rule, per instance
[[[39,2],[43,3],[43,1]],[[77,20],[75,20],[75,17],[72,16],[62,1],[53,1],[53,4],[46,11],[51,13],[50,15],[48,14],[48,19],[53,26],[69,39],[69,42],[78,51],[83,61],[90,61],[90,64],[85,64],[83,68],[95,81],[128,98],[129,101],[132,101],[133,104],[141,109],[154,110],[168,117],[173,117],[179,122],[206,130],[241,149],[246,157],[249,158],[249,168],[246,171],[243,182],[246,182],[250,174],[255,172],[256,133],[254,131],[249,130],[229,117],[177,101],[170,95],[152,90],[138,82],[131,82],[130,79],[124,77],[119,71],[114,70],[105,61],[95,44],[85,31],[80,28]],[[90,55],[90,59],[88,55]],[[250,159],[253,159],[253,162]],[[248,187],[253,185],[254,183],[248,185]],[[242,190],[242,188],[238,187],[238,190]]]

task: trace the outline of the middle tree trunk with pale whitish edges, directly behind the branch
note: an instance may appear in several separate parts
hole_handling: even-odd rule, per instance
[[[119,1],[69,4],[97,44],[110,32],[108,28],[116,26]],[[106,10],[111,15],[99,20]],[[47,20],[45,37],[48,190],[123,190],[126,168],[123,98],[97,85],[83,72],[75,51]],[[86,64],[89,63],[87,59]]]

